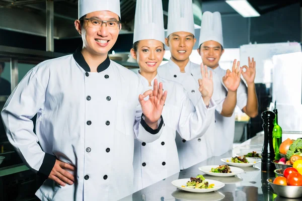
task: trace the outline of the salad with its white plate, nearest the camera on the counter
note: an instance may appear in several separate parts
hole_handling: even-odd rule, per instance
[[[205,179],[202,175],[187,179],[172,181],[172,185],[189,192],[211,192],[224,186],[224,183],[216,180]]]

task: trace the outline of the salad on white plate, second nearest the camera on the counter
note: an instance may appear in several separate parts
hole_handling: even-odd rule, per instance
[[[243,173],[243,169],[238,167],[230,167],[229,165],[207,165],[198,168],[205,174],[212,176],[235,176],[237,174]]]

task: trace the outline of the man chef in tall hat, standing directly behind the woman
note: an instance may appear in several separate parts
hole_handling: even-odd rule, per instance
[[[167,64],[159,67],[159,75],[165,79],[181,83],[189,93],[193,104],[201,97],[198,93],[199,79],[202,79],[200,65],[192,63],[189,59],[196,42],[192,0],[171,0],[168,9],[168,31],[166,45],[171,52]],[[234,73],[238,75],[237,69]],[[227,75],[231,85],[236,76]],[[213,82],[215,83],[213,76]],[[215,85],[214,85],[215,90]],[[214,97],[214,96],[213,96]],[[201,138],[191,141],[176,136],[180,168],[185,169],[214,155],[215,141],[209,140],[214,134],[214,118],[211,125]]]

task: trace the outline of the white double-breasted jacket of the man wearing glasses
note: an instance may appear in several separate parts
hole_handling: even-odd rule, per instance
[[[25,75],[2,111],[9,141],[35,172],[45,153],[77,168],[73,185],[47,179],[36,192],[41,200],[117,200],[133,192],[134,133],[152,142],[163,130],[150,134],[135,120],[140,93],[137,75],[114,61],[88,73],[67,55]]]

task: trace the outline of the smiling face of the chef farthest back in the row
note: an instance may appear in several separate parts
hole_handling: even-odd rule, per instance
[[[212,69],[215,69],[219,65],[219,60],[224,49],[222,49],[220,43],[216,41],[206,41],[201,44],[197,51],[201,56],[202,63]]]

